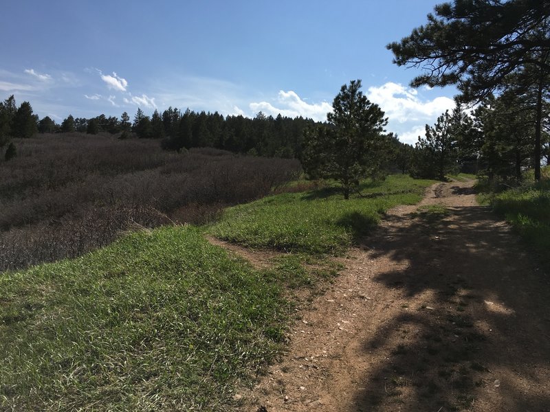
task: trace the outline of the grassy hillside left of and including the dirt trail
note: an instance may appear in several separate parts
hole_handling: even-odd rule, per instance
[[[472,184],[290,185],[2,273],[1,409],[544,410],[546,269]]]

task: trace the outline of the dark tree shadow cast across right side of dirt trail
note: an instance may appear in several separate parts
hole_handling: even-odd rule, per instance
[[[548,410],[548,275],[485,207],[405,220],[364,239],[399,267],[375,281],[402,300],[362,343],[381,360],[364,371],[357,410]]]

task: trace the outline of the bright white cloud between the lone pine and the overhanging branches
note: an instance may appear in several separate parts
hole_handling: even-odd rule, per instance
[[[425,93],[434,93],[424,88]],[[399,140],[415,144],[424,135],[425,125],[434,124],[445,110],[454,108],[454,100],[444,96],[424,98],[417,89],[399,83],[387,82],[380,87],[369,87],[366,93],[388,117],[388,131],[397,133]]]

